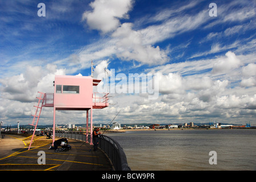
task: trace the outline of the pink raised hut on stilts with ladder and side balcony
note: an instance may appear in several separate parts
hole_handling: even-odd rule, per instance
[[[85,110],[86,111],[86,140],[88,140],[88,123],[90,110],[90,144],[93,136],[93,109],[103,109],[109,106],[109,93],[93,93],[93,86],[97,86],[101,80],[90,76],[55,76],[54,93],[38,92],[38,105],[35,107],[32,126],[37,128],[42,107],[54,107],[53,115],[53,142],[55,140],[55,113],[56,110]],[[36,123],[34,124],[34,122]],[[34,129],[34,134],[35,134]],[[34,136],[33,134],[33,136]],[[31,138],[30,146],[33,141]],[[29,149],[30,149],[29,146]]]

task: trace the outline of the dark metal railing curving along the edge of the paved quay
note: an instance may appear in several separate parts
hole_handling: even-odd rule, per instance
[[[56,131],[55,137],[65,137],[86,142],[86,135],[79,132],[68,132],[64,134],[63,132]],[[88,135],[87,141],[90,143],[90,135]],[[110,137],[107,137],[106,135],[101,135],[98,143],[98,147],[106,153],[111,160],[111,163],[113,163],[115,171],[131,170],[127,164],[125,152],[118,142]]]

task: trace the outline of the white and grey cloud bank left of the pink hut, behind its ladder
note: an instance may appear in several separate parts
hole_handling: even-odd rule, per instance
[[[37,92],[53,93],[55,75],[65,75],[65,69],[57,69],[53,64],[47,64],[45,67],[29,65],[25,73],[1,79],[0,101],[3,109],[0,107],[0,119],[7,122],[11,118],[22,118],[30,123],[30,114]],[[48,117],[49,114],[45,116]]]

